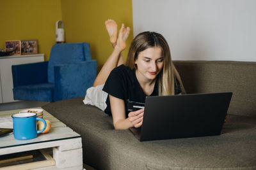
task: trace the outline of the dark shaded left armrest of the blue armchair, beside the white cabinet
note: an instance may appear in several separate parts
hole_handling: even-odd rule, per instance
[[[12,66],[13,87],[47,83],[48,61]]]

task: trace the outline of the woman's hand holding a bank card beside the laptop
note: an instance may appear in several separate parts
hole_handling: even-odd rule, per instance
[[[134,127],[141,127],[143,122],[144,109],[131,111],[128,114],[128,120],[132,123]]]

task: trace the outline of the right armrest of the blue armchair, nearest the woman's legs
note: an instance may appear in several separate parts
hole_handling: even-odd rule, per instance
[[[93,85],[96,71],[96,60],[54,66],[54,101],[84,97]]]

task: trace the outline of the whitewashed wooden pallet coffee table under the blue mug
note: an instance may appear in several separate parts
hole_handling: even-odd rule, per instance
[[[19,111],[0,111],[0,117],[11,116]],[[44,118],[51,121],[49,133],[38,134],[36,138],[28,140],[17,140],[13,137],[13,133],[0,136],[0,155],[52,148],[55,165],[45,164],[47,167],[36,169],[83,169],[81,136],[45,110]]]

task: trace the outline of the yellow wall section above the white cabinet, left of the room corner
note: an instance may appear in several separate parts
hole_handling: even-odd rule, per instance
[[[0,48],[8,40],[38,39],[38,53],[49,60],[57,20],[61,20],[60,0],[1,0]]]

